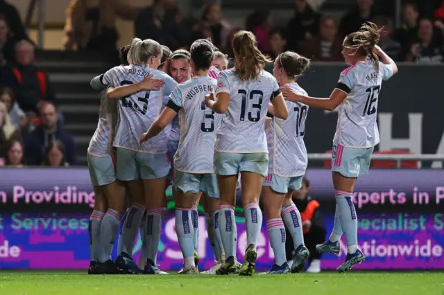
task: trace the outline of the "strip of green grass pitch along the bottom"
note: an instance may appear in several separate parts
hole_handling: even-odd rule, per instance
[[[79,271],[0,271],[1,295],[242,294],[443,295],[443,272],[239,276],[88,276]]]

